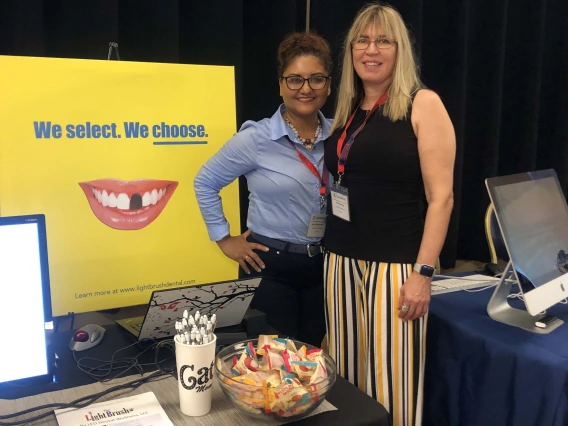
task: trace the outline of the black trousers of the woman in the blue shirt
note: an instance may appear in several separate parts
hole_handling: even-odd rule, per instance
[[[248,241],[258,242],[253,237]],[[281,336],[321,347],[325,336],[323,255],[309,257],[270,248],[256,250],[266,268],[243,277],[262,276],[251,307],[264,312],[268,324]]]

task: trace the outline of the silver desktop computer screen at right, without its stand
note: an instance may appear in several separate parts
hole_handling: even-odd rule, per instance
[[[558,177],[539,170],[486,185],[526,309],[537,316],[568,297],[568,205]]]

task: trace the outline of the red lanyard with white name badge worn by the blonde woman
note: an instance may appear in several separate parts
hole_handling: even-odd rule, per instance
[[[345,162],[347,161],[347,157],[349,156],[349,151],[351,150],[351,146],[353,145],[353,141],[355,140],[357,135],[363,130],[363,128],[367,124],[367,120],[369,120],[369,118],[375,112],[375,110],[377,108],[379,108],[382,104],[384,104],[386,100],[387,100],[387,92],[383,93],[381,95],[381,97],[379,99],[377,99],[377,102],[375,102],[375,105],[373,106],[373,108],[371,109],[369,114],[367,114],[367,116],[365,117],[363,124],[361,124],[361,126],[359,126],[359,128],[353,132],[351,137],[344,144],[345,138],[347,137],[347,129],[349,129],[349,126],[351,125],[351,122],[353,121],[353,118],[355,117],[355,114],[356,114],[357,111],[355,111],[353,114],[351,114],[351,117],[349,117],[349,120],[347,121],[347,124],[345,125],[345,129],[343,129],[343,133],[341,134],[341,137],[337,141],[337,158],[338,158],[338,160],[337,160],[337,175],[338,175],[338,179],[337,179],[337,182],[334,185],[332,185],[332,187],[330,188],[330,191],[331,191],[331,211],[334,214],[334,216],[337,216],[340,219],[343,219],[347,222],[351,222],[351,217],[349,215],[349,190],[347,188],[345,188],[344,186],[341,186],[341,179],[343,178],[343,175],[345,174]]]

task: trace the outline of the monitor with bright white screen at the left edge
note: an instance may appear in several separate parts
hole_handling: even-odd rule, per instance
[[[51,380],[52,320],[45,217],[0,217],[0,389]]]

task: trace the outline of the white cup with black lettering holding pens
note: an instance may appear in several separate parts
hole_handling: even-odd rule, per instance
[[[179,406],[186,416],[204,416],[211,411],[213,365],[217,337],[204,345],[176,342]]]

